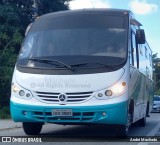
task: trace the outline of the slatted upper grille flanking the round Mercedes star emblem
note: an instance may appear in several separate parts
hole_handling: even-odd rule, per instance
[[[59,100],[61,93],[35,92],[38,100],[46,103],[62,103]],[[91,98],[93,92],[65,93],[67,99],[64,103],[79,103]]]

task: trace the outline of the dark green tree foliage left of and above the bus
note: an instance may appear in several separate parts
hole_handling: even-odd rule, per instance
[[[67,10],[70,0],[0,0],[0,108],[9,105],[10,86],[16,57],[25,29],[38,15]]]

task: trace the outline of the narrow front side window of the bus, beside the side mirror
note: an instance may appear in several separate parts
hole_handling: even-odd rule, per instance
[[[131,49],[132,49],[132,55],[133,55],[133,65],[136,67],[136,68],[139,68],[139,53],[138,53],[138,45],[136,43],[136,36],[134,34],[134,32],[132,32],[132,36],[131,36],[131,40],[132,40],[132,43],[131,43]]]

